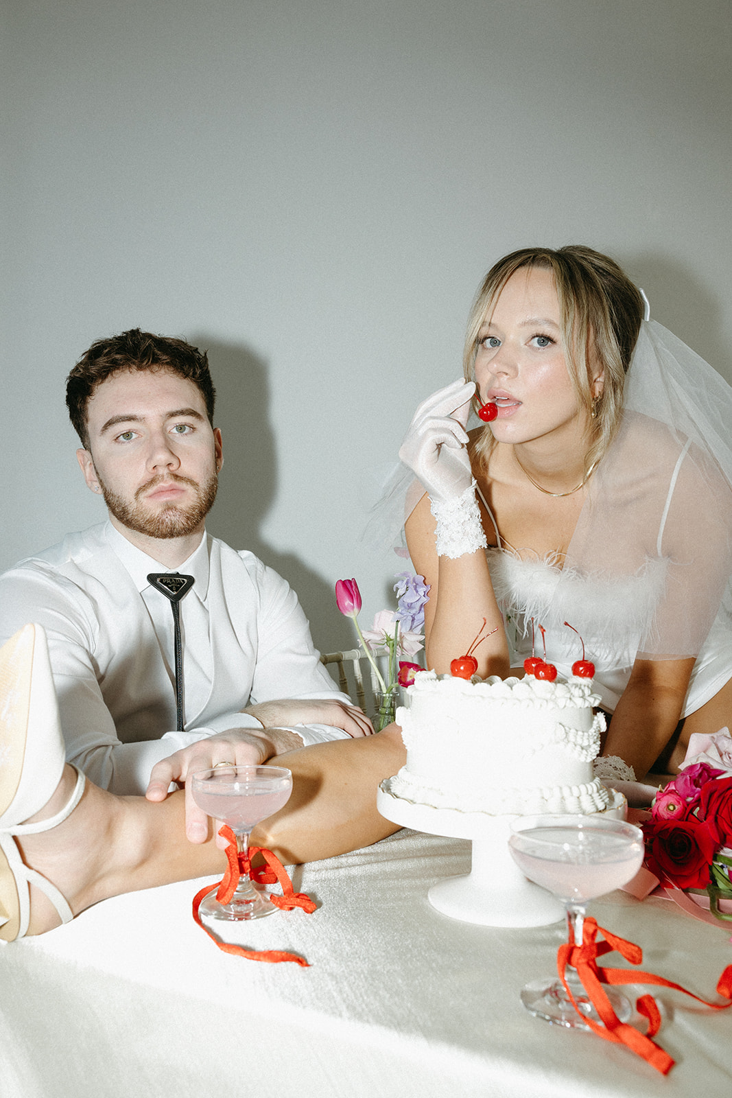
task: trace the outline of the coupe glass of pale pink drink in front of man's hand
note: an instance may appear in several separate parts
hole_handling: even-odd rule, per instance
[[[199,808],[228,824],[240,854],[249,849],[255,825],[282,808],[292,793],[292,774],[284,766],[215,766],[193,774],[191,783]],[[278,910],[267,893],[252,884],[248,873],[241,873],[228,904],[218,903],[217,887],[204,896],[199,908],[210,919],[238,922],[261,919]]]

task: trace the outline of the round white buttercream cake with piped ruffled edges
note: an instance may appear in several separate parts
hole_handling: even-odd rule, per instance
[[[396,712],[407,761],[391,793],[415,804],[491,816],[597,813],[610,803],[593,775],[605,717],[592,680],[472,681],[419,672]]]

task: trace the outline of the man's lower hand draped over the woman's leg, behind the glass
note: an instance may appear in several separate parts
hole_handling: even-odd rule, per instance
[[[165,800],[172,782],[185,784],[185,834],[191,842],[205,842],[209,837],[209,817],[199,808],[191,794],[188,778],[200,770],[210,770],[218,762],[237,766],[259,766],[272,755],[301,748],[300,736],[286,728],[230,728],[189,748],[176,751],[156,763],[145,796],[148,800]]]

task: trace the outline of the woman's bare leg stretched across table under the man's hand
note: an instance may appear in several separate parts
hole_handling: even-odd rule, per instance
[[[273,760],[293,773],[288,805],[251,841],[284,862],[330,858],[376,842],[398,830],[375,807],[379,782],[404,762],[396,726],[378,736],[338,740],[289,752]],[[25,822],[47,819],[69,799],[76,774],[66,766],[55,794]],[[88,782],[71,815],[58,827],[19,841],[23,860],[60,888],[75,915],[122,893],[222,873],[224,854],[213,827],[205,843],[184,831],[184,796],[161,803],[117,797]],[[29,933],[58,926],[46,896],[32,886]]]

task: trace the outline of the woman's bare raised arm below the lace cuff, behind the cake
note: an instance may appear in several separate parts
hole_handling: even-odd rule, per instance
[[[461,557],[438,557],[435,544],[436,522],[425,494],[406,522],[407,546],[418,574],[430,585],[425,606],[425,651],[427,666],[438,673],[450,671],[450,661],[464,656],[477,636],[483,618],[485,632],[497,631],[475,652],[477,674],[508,674],[508,645],[498,609],[485,551]]]

